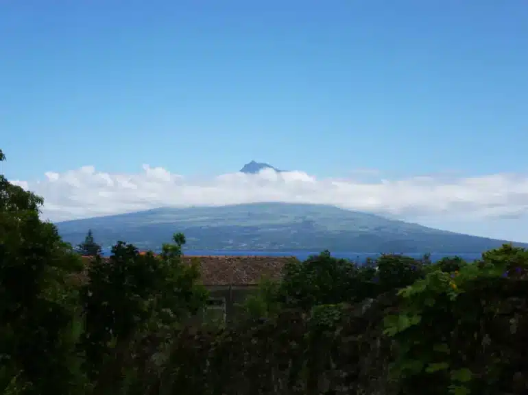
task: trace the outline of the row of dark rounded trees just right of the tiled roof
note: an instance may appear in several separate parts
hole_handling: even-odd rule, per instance
[[[427,256],[417,260],[387,254],[360,265],[323,251],[304,262],[289,262],[281,281],[261,283],[258,292],[246,301],[245,309],[250,316],[269,316],[284,307],[309,310],[318,305],[365,301],[424,277],[428,262]]]

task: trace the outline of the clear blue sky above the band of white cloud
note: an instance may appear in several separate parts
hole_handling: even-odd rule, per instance
[[[525,0],[3,1],[2,172],[528,174],[527,21]]]

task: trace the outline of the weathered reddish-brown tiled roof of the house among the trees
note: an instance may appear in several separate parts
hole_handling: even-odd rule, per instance
[[[142,254],[143,255],[143,254]],[[89,262],[90,257],[83,257]],[[196,262],[204,285],[255,285],[261,278],[279,279],[283,267],[295,257],[184,255],[187,264]]]

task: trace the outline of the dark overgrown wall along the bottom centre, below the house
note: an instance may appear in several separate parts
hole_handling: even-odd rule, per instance
[[[349,305],[309,314],[288,309],[224,330],[180,331],[161,376],[165,393],[373,393],[385,385],[390,355],[381,333],[384,309],[382,303],[368,314]]]

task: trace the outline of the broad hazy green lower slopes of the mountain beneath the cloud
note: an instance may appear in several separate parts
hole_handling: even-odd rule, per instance
[[[158,249],[182,232],[187,249],[224,251],[355,251],[358,253],[481,253],[505,240],[440,231],[330,205],[250,203],[158,208],[57,223],[78,244],[92,229],[97,242],[117,240]],[[527,246],[527,244],[519,244]]]

